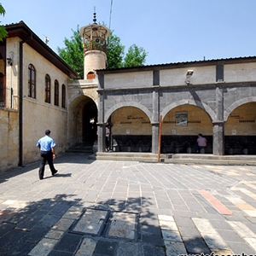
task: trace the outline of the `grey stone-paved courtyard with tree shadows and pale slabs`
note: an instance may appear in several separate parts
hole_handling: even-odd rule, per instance
[[[255,166],[62,154],[0,173],[0,255],[256,254]]]

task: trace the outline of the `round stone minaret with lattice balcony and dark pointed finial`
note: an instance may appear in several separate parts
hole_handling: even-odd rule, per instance
[[[94,78],[95,70],[106,68],[107,61],[105,52],[110,30],[96,23],[96,12],[93,15],[94,23],[80,29],[84,41],[84,79]]]

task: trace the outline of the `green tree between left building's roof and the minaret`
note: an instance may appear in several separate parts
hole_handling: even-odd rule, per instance
[[[65,61],[73,70],[79,74],[78,79],[84,79],[84,46],[83,39],[79,34],[79,26],[73,32],[70,40],[64,39],[65,48],[57,48],[61,59]]]

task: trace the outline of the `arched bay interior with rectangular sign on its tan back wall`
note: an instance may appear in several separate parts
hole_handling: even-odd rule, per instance
[[[189,104],[172,108],[163,119],[161,152],[195,153],[198,133],[207,138],[206,153],[212,154],[212,121],[207,112]]]

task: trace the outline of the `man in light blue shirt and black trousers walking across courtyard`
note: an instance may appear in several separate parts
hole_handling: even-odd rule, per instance
[[[53,138],[49,137],[50,131],[45,131],[45,136],[41,137],[38,140],[37,147],[40,148],[41,151],[41,162],[39,168],[39,179],[44,179],[44,167],[46,161],[49,164],[49,169],[51,171],[52,176],[54,176],[58,171],[55,169],[53,164],[53,160],[55,160],[55,141]]]

